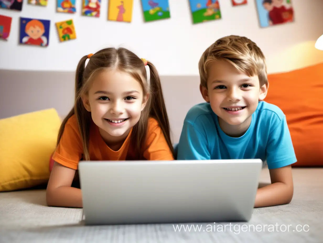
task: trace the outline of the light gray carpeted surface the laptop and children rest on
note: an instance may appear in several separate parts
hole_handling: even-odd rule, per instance
[[[255,208],[248,223],[189,223],[186,231],[172,224],[84,226],[81,209],[47,207],[45,190],[0,193],[0,242],[321,243],[323,168],[293,168],[293,176],[290,204]],[[267,168],[260,181],[270,182]]]

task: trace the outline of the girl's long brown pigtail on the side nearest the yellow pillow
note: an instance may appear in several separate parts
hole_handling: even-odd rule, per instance
[[[78,66],[75,73],[75,100],[74,107],[64,118],[58,132],[57,145],[63,135],[64,127],[68,119],[75,114],[78,122],[79,132],[83,144],[83,159],[89,160],[89,127],[91,116],[89,112],[85,109],[81,99],[82,87],[83,87],[83,75],[85,69],[85,61],[88,57],[83,56],[78,62]]]

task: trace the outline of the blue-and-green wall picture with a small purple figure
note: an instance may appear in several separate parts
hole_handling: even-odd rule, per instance
[[[146,22],[171,17],[168,0],[141,0]]]

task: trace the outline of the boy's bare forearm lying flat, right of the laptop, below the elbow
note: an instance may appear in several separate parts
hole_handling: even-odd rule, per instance
[[[258,188],[255,208],[269,207],[290,203],[293,197],[293,186],[283,182],[276,182],[268,186]]]

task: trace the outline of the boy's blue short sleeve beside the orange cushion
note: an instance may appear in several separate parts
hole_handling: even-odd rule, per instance
[[[291,165],[297,161],[292,139],[287,126],[286,116],[276,116],[270,126],[266,147],[268,169]]]

